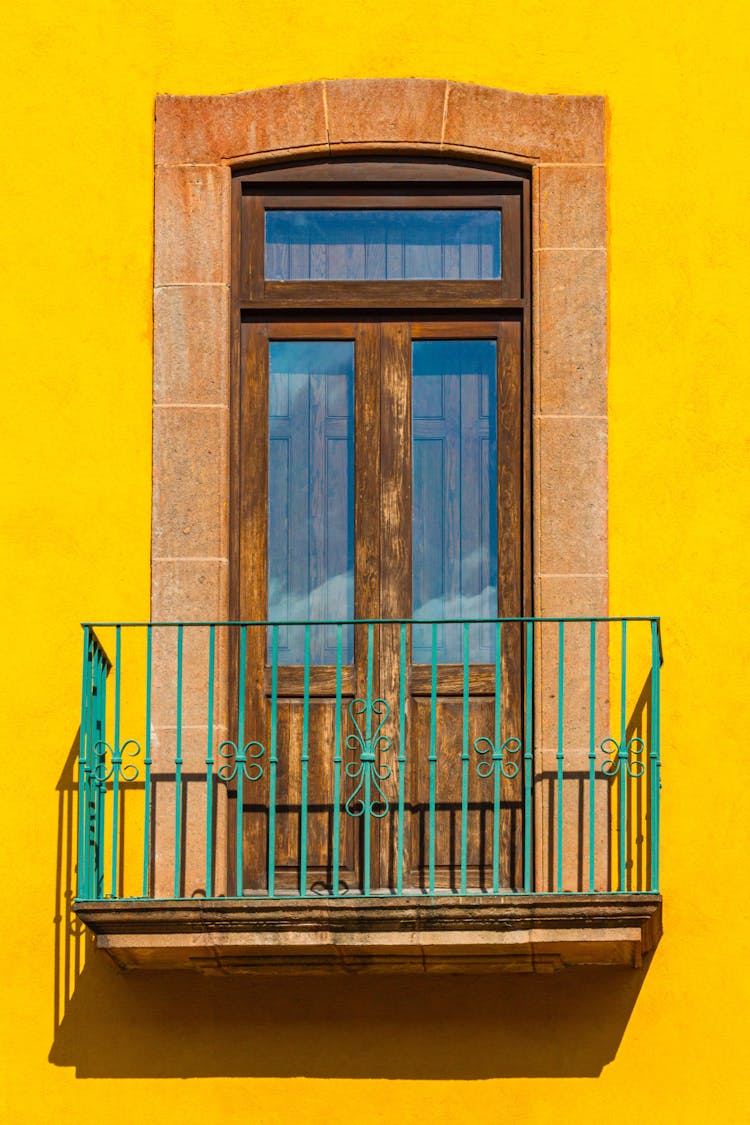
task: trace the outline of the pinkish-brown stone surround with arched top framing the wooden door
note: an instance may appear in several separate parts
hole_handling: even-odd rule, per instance
[[[229,615],[232,169],[388,153],[532,169],[534,611],[606,615],[605,101],[364,79],[156,99],[152,620]],[[606,677],[603,652],[602,701]],[[542,812],[553,714],[537,700]]]

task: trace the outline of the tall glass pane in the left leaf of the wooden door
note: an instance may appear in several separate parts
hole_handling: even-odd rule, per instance
[[[269,620],[354,615],[354,344],[270,344]],[[344,663],[352,659],[344,628]],[[279,630],[279,663],[302,664],[305,630]],[[313,664],[335,664],[336,629],[310,630]]]

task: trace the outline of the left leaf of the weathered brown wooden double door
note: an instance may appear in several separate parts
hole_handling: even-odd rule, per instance
[[[379,543],[372,531],[378,497],[372,490],[379,480],[379,434],[371,420],[379,403],[369,374],[377,335],[373,348],[369,325],[273,324],[249,325],[247,338],[243,376],[254,386],[243,387],[243,405],[250,403],[251,410],[243,411],[242,446],[244,490],[252,500],[242,508],[249,519],[241,541],[247,543],[253,569],[247,564],[242,568],[241,615],[351,621],[365,609],[368,584],[377,583],[378,575]],[[266,502],[260,504],[264,487]],[[377,519],[374,528],[377,532]],[[359,588],[355,569],[368,579]],[[362,646],[351,624],[341,630],[280,626],[274,680],[273,633],[261,627],[247,631],[246,729],[266,748],[266,764],[263,776],[244,788],[242,885],[249,892],[268,890],[273,804],[274,892],[331,893],[336,835],[340,888],[356,888],[361,831],[342,800],[334,812],[334,784],[337,772],[345,800],[346,738],[353,729],[349,705],[363,682]],[[242,662],[236,658],[234,666],[237,675]],[[274,692],[273,799],[268,756]],[[229,842],[236,868],[235,854],[236,835]]]

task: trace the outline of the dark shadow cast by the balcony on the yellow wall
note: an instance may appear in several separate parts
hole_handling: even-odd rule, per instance
[[[647,969],[552,975],[123,973],[72,912],[78,740],[60,778],[54,1041],[79,1078],[590,1078]]]

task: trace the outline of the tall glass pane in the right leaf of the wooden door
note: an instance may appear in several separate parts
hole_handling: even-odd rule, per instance
[[[412,345],[412,605],[425,620],[497,615],[497,344]],[[470,659],[494,659],[494,629],[470,629]],[[463,658],[461,626],[442,624],[437,660]],[[413,658],[432,658],[415,627]]]

